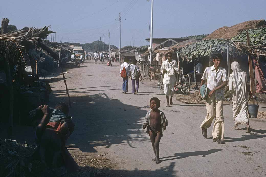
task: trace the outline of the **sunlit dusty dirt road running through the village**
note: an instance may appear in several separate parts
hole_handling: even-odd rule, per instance
[[[72,102],[70,115],[76,123],[68,140],[70,151],[106,154],[115,165],[110,170],[111,176],[266,175],[265,120],[250,120],[251,134],[243,129],[233,130],[231,105],[226,103],[223,111],[226,144],[213,143],[212,127],[207,139],[199,128],[206,116],[205,105],[173,99],[174,104],[166,108],[163,92],[148,80],[140,82],[138,95],[122,94],[119,69],[115,63],[108,67],[86,62],[65,75]],[[68,101],[63,81],[51,86],[51,104]],[[151,161],[154,157],[151,142],[141,128],[153,96],[161,100],[160,109],[169,122],[160,143],[160,164]]]

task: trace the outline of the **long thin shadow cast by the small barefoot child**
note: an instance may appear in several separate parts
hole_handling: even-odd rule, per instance
[[[163,161],[171,161],[171,160],[176,160],[176,159],[183,159],[186,157],[190,157],[190,156],[198,156],[198,155],[202,155],[202,157],[206,157],[206,155],[212,154],[212,153],[216,153],[218,151],[221,151],[222,149],[210,149],[207,151],[194,151],[194,152],[184,152],[184,153],[175,153],[173,156],[168,156],[168,157],[162,157],[160,159],[164,159],[164,160],[160,160],[160,162]],[[170,158],[170,159],[168,159]]]

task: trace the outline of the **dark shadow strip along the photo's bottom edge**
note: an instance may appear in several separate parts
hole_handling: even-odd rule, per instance
[[[178,171],[174,170],[176,162],[171,162],[169,166],[160,167],[160,169],[156,169],[154,171],[151,170],[138,170],[134,169],[130,170],[113,170],[113,169],[106,169],[106,170],[99,170],[97,168],[92,168],[89,166],[80,167],[80,169],[72,174],[70,177],[74,176],[132,176],[132,177],[139,177],[139,176],[178,176]]]

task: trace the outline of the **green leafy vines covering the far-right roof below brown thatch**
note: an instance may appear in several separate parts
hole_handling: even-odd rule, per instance
[[[251,46],[260,46],[262,44],[266,44],[266,27],[248,29],[247,31],[250,36]],[[231,40],[247,44],[247,31],[240,33],[239,35],[233,37]]]

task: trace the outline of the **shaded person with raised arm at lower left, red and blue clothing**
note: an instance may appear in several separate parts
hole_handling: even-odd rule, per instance
[[[57,103],[55,109],[41,105],[30,112],[32,122],[41,119],[36,127],[39,146],[33,158],[49,167],[64,166],[68,172],[73,172],[78,169],[78,165],[65,147],[66,140],[75,126],[68,112],[69,107],[65,103]]]

